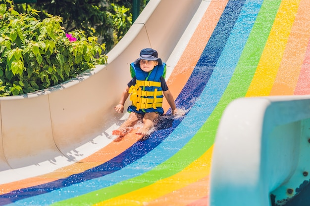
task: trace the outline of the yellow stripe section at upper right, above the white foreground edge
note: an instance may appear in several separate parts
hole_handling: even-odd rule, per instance
[[[300,0],[282,0],[258,62],[247,97],[270,94],[288,41]]]

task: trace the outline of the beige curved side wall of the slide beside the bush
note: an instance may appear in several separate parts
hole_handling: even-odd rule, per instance
[[[173,70],[208,3],[151,0],[106,65],[46,90],[1,97],[0,183],[70,165],[109,144],[122,119],[112,108],[130,80],[129,64],[153,47]]]

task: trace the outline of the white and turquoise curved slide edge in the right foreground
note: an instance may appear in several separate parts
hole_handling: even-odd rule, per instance
[[[211,206],[284,205],[302,190],[310,171],[309,105],[303,95],[240,98],[227,106],[214,143]]]

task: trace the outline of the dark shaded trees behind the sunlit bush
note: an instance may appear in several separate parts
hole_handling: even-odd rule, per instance
[[[146,0],[140,1],[140,8]],[[40,18],[47,13],[61,16],[66,32],[81,30],[87,36],[96,36],[109,51],[128,31],[132,25],[132,0],[37,0],[37,3],[18,4],[18,11],[27,12],[35,8],[43,11]]]

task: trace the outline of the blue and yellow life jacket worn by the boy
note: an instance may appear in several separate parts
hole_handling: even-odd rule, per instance
[[[131,77],[136,77],[137,82],[129,89],[132,105],[143,112],[162,111],[161,77],[165,78],[166,64],[157,65],[150,72],[143,71],[139,65],[130,64]]]

